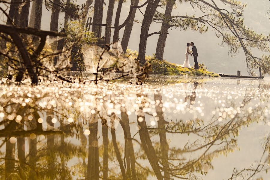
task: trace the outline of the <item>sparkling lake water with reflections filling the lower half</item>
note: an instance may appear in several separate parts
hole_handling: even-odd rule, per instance
[[[270,81],[0,85],[0,179],[269,180]]]

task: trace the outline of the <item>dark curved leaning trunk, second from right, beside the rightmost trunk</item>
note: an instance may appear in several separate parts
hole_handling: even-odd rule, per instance
[[[148,31],[153,19],[153,16],[155,14],[155,10],[158,7],[158,3],[160,0],[149,0],[144,18],[143,18],[143,23],[142,23],[142,29],[141,29],[141,35],[140,35],[140,44],[139,44],[139,55],[138,55],[138,60],[140,64],[145,64],[145,54],[146,54],[146,43],[147,43],[147,38],[148,38]]]

